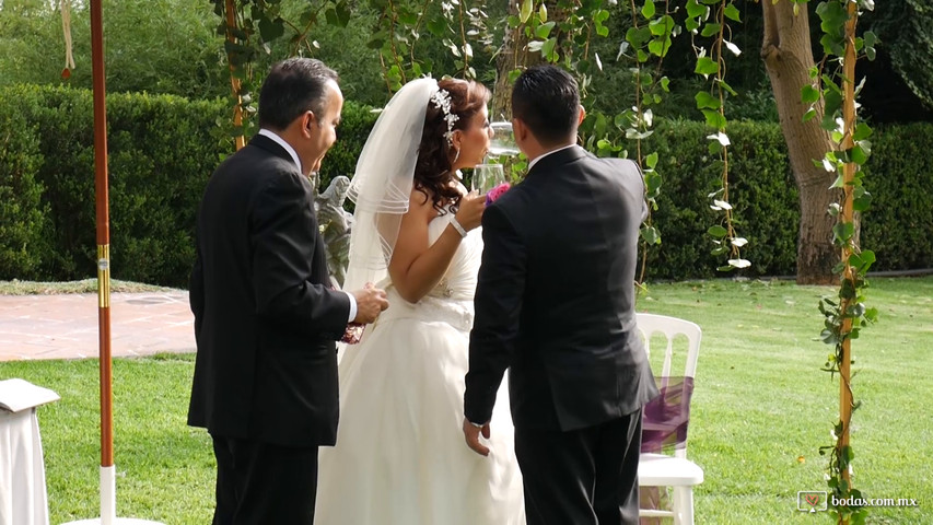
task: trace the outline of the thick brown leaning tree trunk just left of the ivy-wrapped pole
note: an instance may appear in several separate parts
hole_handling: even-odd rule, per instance
[[[761,8],[765,10],[761,58],[771,79],[781,130],[800,190],[797,283],[836,283],[838,279],[832,267],[839,261],[840,253],[832,244],[836,219],[827,210],[829,205],[839,201],[841,191],[829,187],[837,174],[813,162],[821,160],[833,148],[829,132],[819,127],[821,101],[817,107],[818,116],[803,121],[808,106],[801,101],[801,88],[812,82],[809,70],[815,66],[806,7],[797,15],[790,0],[778,3],[762,1]]]

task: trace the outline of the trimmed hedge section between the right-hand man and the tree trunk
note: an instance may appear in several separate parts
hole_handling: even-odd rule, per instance
[[[713,244],[705,233],[722,217],[710,209],[709,195],[721,187],[722,163],[708,153],[709,135],[702,122],[662,121],[642,147],[658,152],[663,177],[653,212],[662,243],[648,253],[651,279],[724,276],[716,267],[725,260],[710,255]],[[743,256],[751,260],[740,275],[793,275],[798,194],[781,130],[767,122],[733,122],[728,135],[728,200],[737,233],[748,240]]]

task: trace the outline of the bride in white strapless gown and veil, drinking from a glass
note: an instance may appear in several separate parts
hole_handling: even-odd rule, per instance
[[[489,456],[473,453],[460,430],[485,197],[466,191],[459,168],[489,148],[489,96],[476,82],[415,80],[363,147],[345,289],[377,283],[389,308],[342,349],[317,524],[525,523],[505,385]]]

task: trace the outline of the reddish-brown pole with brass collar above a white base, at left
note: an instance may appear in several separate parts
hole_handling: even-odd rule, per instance
[[[101,0],[91,1],[91,67],[94,86],[94,192],[97,217],[97,324],[101,368],[101,466],[114,465],[110,363],[110,221],[107,189],[107,105]]]

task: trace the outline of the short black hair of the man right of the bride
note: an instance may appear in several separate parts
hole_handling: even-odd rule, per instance
[[[512,89],[512,116],[522,119],[543,145],[572,138],[579,109],[576,81],[556,66],[528,68]]]

